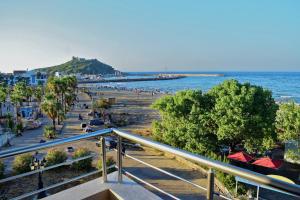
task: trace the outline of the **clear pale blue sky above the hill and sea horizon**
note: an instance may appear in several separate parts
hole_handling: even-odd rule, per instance
[[[0,0],[0,71],[300,71],[298,0]]]

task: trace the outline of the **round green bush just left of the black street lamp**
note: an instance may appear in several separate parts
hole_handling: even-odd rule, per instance
[[[13,162],[13,170],[16,174],[22,174],[31,171],[30,164],[32,162],[31,154],[22,154],[16,156]]]

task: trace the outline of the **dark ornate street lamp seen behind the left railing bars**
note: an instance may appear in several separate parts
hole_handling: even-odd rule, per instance
[[[36,155],[38,153],[36,152]],[[46,159],[43,158],[41,160],[39,160],[36,156],[32,157],[32,161],[30,164],[30,169],[33,170],[39,170],[39,169],[43,169],[45,167],[45,163],[46,163]],[[39,171],[39,176],[38,176],[38,190],[43,189],[44,188],[44,184],[43,184],[43,180],[42,180],[42,171]],[[38,193],[37,198],[41,199],[46,197],[46,191],[42,191],[40,193]]]

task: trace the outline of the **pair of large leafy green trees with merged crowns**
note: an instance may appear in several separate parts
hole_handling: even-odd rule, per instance
[[[207,93],[187,90],[157,100],[161,120],[154,137],[191,152],[215,152],[219,144],[264,150],[276,139],[277,105],[270,91],[228,80]]]

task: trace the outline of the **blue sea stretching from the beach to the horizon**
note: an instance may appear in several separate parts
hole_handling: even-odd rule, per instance
[[[152,72],[157,73],[157,72]],[[170,73],[170,72],[168,72]],[[175,72],[174,72],[175,73]],[[184,72],[176,72],[184,73]],[[186,72],[191,74],[191,72]],[[207,72],[197,72],[207,73]],[[212,73],[212,72],[211,72]],[[218,77],[186,77],[175,80],[142,81],[105,83],[102,85],[125,87],[129,89],[159,90],[162,92],[176,92],[185,89],[201,89],[207,91],[213,86],[227,79],[236,79],[242,83],[260,85],[272,91],[277,101],[294,100],[300,103],[300,72],[213,72],[222,73]],[[129,77],[141,76],[143,73],[131,73]],[[149,74],[149,73],[148,73]],[[101,84],[100,84],[101,85]]]

